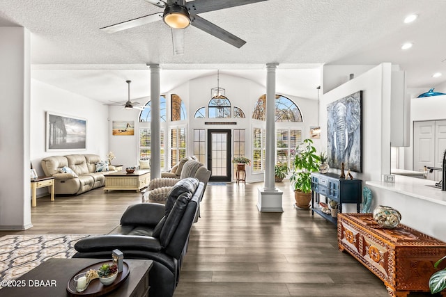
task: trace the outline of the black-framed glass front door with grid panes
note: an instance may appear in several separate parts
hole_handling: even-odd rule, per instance
[[[211,182],[231,182],[231,130],[208,130]]]

